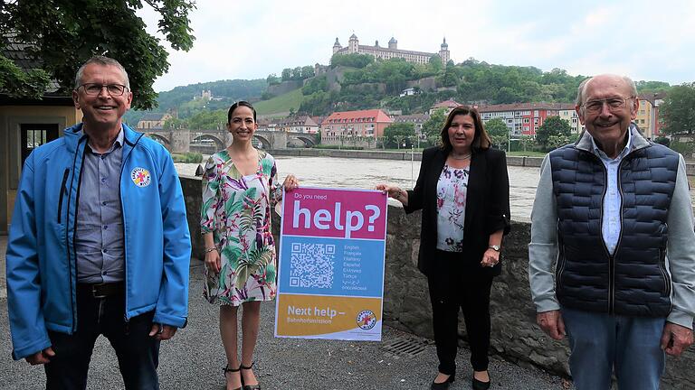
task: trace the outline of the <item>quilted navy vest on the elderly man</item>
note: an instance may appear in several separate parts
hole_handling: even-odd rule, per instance
[[[666,223],[679,156],[659,144],[627,154],[618,171],[621,235],[614,255],[601,233],[606,170],[567,145],[550,153],[557,201],[557,299],[568,308],[665,317],[671,311]]]

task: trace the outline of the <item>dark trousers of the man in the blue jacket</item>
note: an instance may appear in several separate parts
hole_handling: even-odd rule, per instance
[[[104,335],[116,351],[126,389],[158,389],[159,341],[148,336],[154,311],[125,320],[125,294],[94,298],[78,288],[77,331],[71,335],[50,331],[55,357],[45,365],[46,389],[87,387],[91,351]]]

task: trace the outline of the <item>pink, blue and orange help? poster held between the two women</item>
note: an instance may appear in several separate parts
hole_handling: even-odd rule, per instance
[[[381,340],[386,209],[376,190],[285,193],[276,337]]]

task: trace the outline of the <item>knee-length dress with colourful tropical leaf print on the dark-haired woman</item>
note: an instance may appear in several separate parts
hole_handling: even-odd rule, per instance
[[[205,164],[201,232],[213,233],[221,269],[205,267],[208,302],[238,306],[275,297],[277,265],[271,206],[279,188],[275,160],[258,151],[255,173],[242,175],[226,150]],[[272,204],[271,204],[272,203]]]

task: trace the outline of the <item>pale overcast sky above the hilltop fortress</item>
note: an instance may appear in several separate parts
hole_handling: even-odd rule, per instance
[[[147,5],[146,5],[147,7]],[[560,68],[571,75],[626,74],[671,84],[695,81],[692,0],[198,0],[191,51],[169,51],[155,90],[219,79],[265,79],[285,68],[328,64],[333,42],[439,51],[502,65]],[[156,14],[138,14],[156,31]]]

